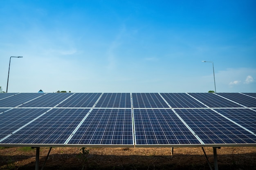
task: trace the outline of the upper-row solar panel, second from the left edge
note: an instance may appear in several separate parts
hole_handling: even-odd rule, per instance
[[[16,107],[41,95],[42,93],[19,93],[0,100],[0,107]]]

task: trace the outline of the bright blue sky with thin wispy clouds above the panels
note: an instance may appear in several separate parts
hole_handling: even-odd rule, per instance
[[[0,0],[8,92],[256,93],[256,1]]]

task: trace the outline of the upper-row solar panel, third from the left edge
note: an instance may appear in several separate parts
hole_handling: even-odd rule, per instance
[[[73,93],[47,93],[20,107],[54,107],[72,94]]]

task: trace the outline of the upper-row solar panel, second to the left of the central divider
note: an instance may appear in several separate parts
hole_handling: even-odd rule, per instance
[[[101,93],[75,93],[58,107],[92,107]]]

